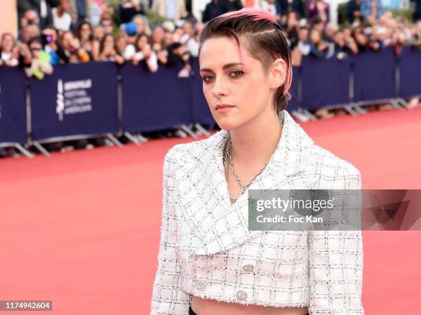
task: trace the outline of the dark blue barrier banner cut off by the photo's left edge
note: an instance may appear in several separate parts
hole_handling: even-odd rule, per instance
[[[25,73],[0,67],[0,143],[27,141]]]

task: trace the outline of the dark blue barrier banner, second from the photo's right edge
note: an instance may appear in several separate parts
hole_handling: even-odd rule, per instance
[[[352,56],[354,62],[354,101],[396,97],[396,58],[391,48]]]

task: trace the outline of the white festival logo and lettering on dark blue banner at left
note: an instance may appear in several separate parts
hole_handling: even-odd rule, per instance
[[[89,96],[89,89],[92,87],[92,80],[77,80],[57,82],[57,106],[58,119],[63,121],[64,115],[85,113],[92,110],[92,99]]]

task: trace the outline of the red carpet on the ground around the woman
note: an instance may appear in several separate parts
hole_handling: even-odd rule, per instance
[[[364,188],[421,189],[421,108],[302,126],[356,165]],[[52,300],[45,314],[149,314],[162,159],[192,140],[0,160],[0,300]],[[421,233],[363,237],[366,314],[419,314]]]

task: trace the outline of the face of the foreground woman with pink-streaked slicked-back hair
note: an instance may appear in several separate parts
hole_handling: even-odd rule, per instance
[[[243,45],[248,75],[241,65],[239,47],[233,38],[209,38],[202,44],[199,65],[203,92],[210,112],[222,129],[232,130],[274,110],[269,76],[260,60]],[[224,51],[222,54],[221,51]],[[215,106],[233,107],[217,110]]]

